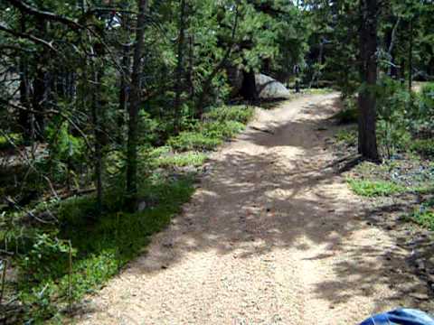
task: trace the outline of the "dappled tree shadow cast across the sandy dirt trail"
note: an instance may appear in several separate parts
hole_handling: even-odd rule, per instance
[[[340,194],[346,185],[335,172],[337,163],[326,160],[325,138],[335,132],[329,118],[336,111],[336,100],[305,106],[304,115],[295,121],[277,121],[274,135],[251,130],[242,135],[234,148],[242,142],[254,145],[257,153],[240,145],[240,150],[210,162],[212,173],[165,232],[165,242],[154,247],[152,261],[143,256],[128,273],[165,272],[199,251],[249,258],[278,249],[315,252],[317,246],[324,246],[323,253],[307,255],[305,262],[343,257],[333,265],[335,280],[316,283],[318,299],[339,305],[354,295],[374,296],[373,284],[383,283],[391,291],[386,292],[387,299],[375,302],[373,312],[381,311],[387,302],[402,302],[403,295],[417,288],[408,274],[393,275],[395,282],[407,283],[404,291],[391,282],[392,269],[405,264],[401,251],[392,246],[384,251],[389,244],[381,245],[383,238],[352,243],[355,232],[372,225],[363,203]],[[418,307],[411,303],[407,307]]]

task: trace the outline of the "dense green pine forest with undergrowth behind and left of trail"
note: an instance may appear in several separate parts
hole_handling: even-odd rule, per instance
[[[0,321],[137,255],[267,106],[259,72],[339,90],[365,159],[432,157],[432,26],[429,0],[0,0]]]

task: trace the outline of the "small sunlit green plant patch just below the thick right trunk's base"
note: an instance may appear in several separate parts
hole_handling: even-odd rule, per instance
[[[401,185],[392,181],[370,181],[348,179],[348,184],[355,194],[364,197],[385,197],[405,191]]]

